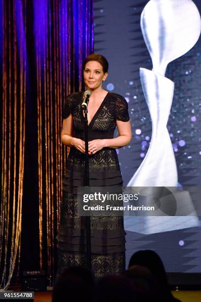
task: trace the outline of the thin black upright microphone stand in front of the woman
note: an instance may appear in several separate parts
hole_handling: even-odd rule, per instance
[[[84,187],[89,187],[89,155],[88,155],[88,119],[87,106],[84,110],[84,128],[85,128],[85,182]],[[91,222],[90,216],[86,216],[87,231],[87,269],[91,271]]]

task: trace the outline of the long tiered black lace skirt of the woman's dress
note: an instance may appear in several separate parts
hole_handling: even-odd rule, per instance
[[[58,273],[72,265],[86,266],[86,217],[78,215],[77,187],[84,184],[84,154],[72,148],[63,180],[61,221],[58,228]],[[122,186],[114,149],[103,149],[89,158],[91,187]],[[95,277],[125,269],[123,217],[91,216],[91,261]]]

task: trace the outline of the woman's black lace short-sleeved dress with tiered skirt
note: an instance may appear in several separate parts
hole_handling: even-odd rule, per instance
[[[73,136],[84,140],[83,92],[67,97],[64,118],[73,117]],[[116,120],[128,121],[128,104],[115,93],[105,96],[89,124],[89,141],[113,138]],[[63,180],[61,225],[58,229],[58,274],[71,265],[86,265],[86,218],[77,214],[76,189],[83,186],[85,155],[70,149]],[[103,148],[89,156],[90,186],[122,186],[115,149]],[[91,217],[92,270],[95,277],[125,269],[125,230],[123,217]]]

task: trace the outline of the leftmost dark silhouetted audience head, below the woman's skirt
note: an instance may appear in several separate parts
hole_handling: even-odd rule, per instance
[[[91,302],[95,283],[90,271],[83,267],[69,267],[59,276],[53,290],[52,302]]]

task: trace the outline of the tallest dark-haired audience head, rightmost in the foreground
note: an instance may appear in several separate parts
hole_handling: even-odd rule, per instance
[[[161,292],[163,293],[163,301],[179,301],[174,298],[170,292],[165,267],[156,252],[145,250],[134,253],[129,262],[129,269],[132,269],[134,265],[142,265],[150,270],[160,285]]]

